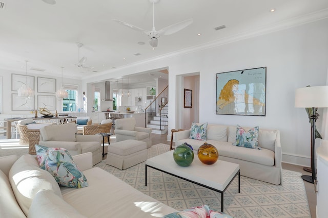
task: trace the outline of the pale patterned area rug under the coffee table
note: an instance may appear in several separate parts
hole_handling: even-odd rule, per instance
[[[156,144],[148,149],[148,158],[167,151],[168,144]],[[213,210],[221,211],[220,193],[150,167],[148,185],[145,186],[145,162],[123,171],[106,165],[106,160],[96,166],[177,210],[206,204]],[[301,173],[283,169],[282,180],[282,185],[273,185],[241,176],[238,193],[236,177],[224,192],[224,212],[236,218],[311,217]]]

